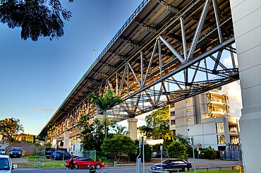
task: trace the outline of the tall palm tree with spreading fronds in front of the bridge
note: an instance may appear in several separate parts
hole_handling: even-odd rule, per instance
[[[91,102],[96,106],[97,113],[104,115],[104,132],[105,138],[107,138],[107,110],[123,101],[113,90],[107,90],[103,96],[94,93],[92,95]]]

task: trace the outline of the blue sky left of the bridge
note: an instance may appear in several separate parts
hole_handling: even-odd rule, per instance
[[[141,0],[61,0],[73,12],[64,35],[21,40],[20,29],[0,23],[0,119],[20,119],[37,135]]]

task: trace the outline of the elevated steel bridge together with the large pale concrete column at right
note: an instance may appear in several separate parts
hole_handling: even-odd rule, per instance
[[[49,120],[52,137],[68,146],[80,114],[96,114],[92,93],[121,96],[110,110],[117,122],[238,80],[240,71],[244,171],[260,172],[260,16],[259,0],[142,1]],[[228,57],[231,66],[222,64]]]

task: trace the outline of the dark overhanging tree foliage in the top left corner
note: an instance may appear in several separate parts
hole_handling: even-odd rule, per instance
[[[63,20],[70,18],[71,11],[63,8],[59,0],[0,0],[1,23],[7,23],[8,28],[21,28],[23,40],[61,37]]]

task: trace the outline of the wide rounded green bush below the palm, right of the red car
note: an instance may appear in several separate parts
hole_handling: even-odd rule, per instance
[[[128,156],[137,152],[137,145],[128,136],[115,135],[113,138],[107,138],[102,143],[102,152],[105,154],[114,155],[117,162],[119,162],[121,155]]]

